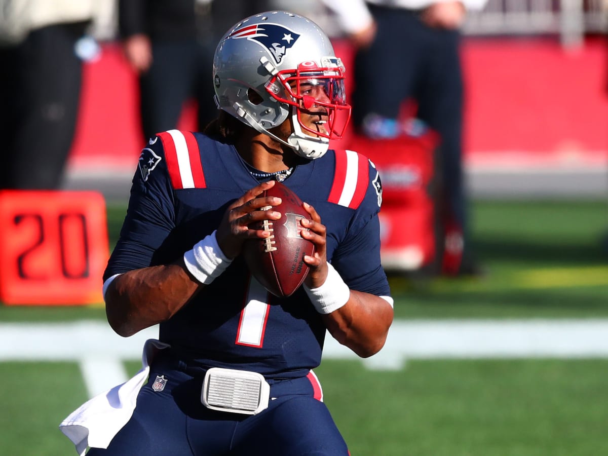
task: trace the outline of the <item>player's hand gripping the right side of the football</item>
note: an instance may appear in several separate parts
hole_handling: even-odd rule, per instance
[[[309,213],[310,218],[300,220],[300,224],[306,228],[300,234],[314,244],[313,256],[304,257],[304,263],[310,267],[304,283],[308,288],[318,288],[327,278],[327,229],[321,223],[321,216],[313,206],[305,202],[304,209]]]

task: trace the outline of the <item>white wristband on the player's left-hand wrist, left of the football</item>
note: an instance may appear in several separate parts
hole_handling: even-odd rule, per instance
[[[232,263],[219,248],[215,233],[196,243],[192,250],[184,254],[184,263],[190,274],[205,285],[213,282]]]

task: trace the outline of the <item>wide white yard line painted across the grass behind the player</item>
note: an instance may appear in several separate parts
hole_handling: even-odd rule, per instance
[[[123,360],[141,358],[148,328],[117,336],[105,322],[0,323],[0,362],[75,361],[89,395],[126,380]],[[324,359],[358,359],[330,336]],[[608,319],[397,320],[380,353],[363,360],[373,369],[398,369],[407,359],[608,358]]]

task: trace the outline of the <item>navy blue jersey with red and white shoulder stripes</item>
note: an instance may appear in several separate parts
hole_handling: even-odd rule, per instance
[[[328,151],[297,165],[283,182],[327,228],[327,259],[349,288],[390,295],[380,263],[381,183],[370,161]],[[104,280],[178,260],[213,232],[235,199],[258,184],[237,150],[201,133],[159,133],[139,158],[128,212]],[[243,258],[170,320],[159,339],[200,367],[298,377],[320,363],[326,328],[305,291],[278,298],[254,280]]]

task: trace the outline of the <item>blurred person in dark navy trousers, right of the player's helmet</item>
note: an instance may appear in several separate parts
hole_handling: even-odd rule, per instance
[[[415,100],[416,119],[440,134],[435,170],[443,188],[443,201],[438,202],[440,223],[451,230],[446,248],[460,252],[451,264],[444,257],[443,272],[478,274],[463,178],[459,48],[466,10],[482,9],[486,0],[322,2],[335,13],[356,49],[352,102],[359,133],[379,139],[404,134],[412,123],[402,122],[400,112],[404,102]]]

